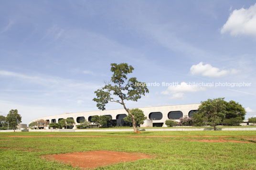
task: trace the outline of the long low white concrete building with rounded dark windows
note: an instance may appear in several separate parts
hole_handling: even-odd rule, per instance
[[[200,104],[183,104],[183,105],[171,105],[171,106],[156,106],[156,107],[143,107],[139,108],[143,110],[145,116],[147,116],[147,120],[144,121],[144,124],[140,125],[141,127],[165,127],[165,120],[179,120],[181,117],[191,117],[194,112],[198,111],[198,107]],[[98,110],[98,111],[86,111],[86,112],[78,112],[78,113],[64,113],[53,116],[45,116],[41,118],[37,118],[32,120],[45,120],[49,123],[58,123],[58,121],[62,119],[71,118],[75,120],[75,126],[86,119],[91,121],[92,117],[95,115],[106,115],[111,118],[108,122],[108,126],[129,126],[130,124],[123,120],[124,117],[127,116],[127,112],[124,109],[117,110]],[[29,123],[31,123],[29,122]],[[95,128],[96,124],[91,125],[91,128]]]

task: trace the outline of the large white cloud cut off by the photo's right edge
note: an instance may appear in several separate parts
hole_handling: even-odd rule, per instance
[[[232,36],[256,36],[256,3],[248,9],[233,10],[221,33],[229,32]]]

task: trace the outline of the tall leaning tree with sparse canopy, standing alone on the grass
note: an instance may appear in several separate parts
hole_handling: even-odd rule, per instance
[[[146,83],[139,82],[135,77],[130,79],[127,78],[127,75],[132,73],[132,70],[134,70],[134,68],[129,66],[127,63],[112,63],[110,70],[113,72],[111,83],[106,82],[103,88],[96,90],[96,98],[93,100],[97,102],[96,106],[99,110],[106,110],[105,106],[108,102],[121,104],[127,111],[128,115],[132,117],[134,132],[138,132],[136,130],[135,117],[126,107],[125,101],[138,101],[142,95],[148,93],[149,90]],[[117,99],[114,99],[114,96],[116,96]]]

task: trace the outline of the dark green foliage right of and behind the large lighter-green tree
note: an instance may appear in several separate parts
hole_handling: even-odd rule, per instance
[[[238,102],[230,100],[226,102],[226,116],[225,119],[237,118],[245,120],[245,108]]]

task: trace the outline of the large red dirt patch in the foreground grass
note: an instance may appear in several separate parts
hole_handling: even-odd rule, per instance
[[[127,153],[108,150],[96,150],[87,152],[73,152],[55,155],[45,155],[48,160],[59,160],[70,163],[73,167],[96,168],[118,162],[127,162],[140,159],[149,159],[151,156],[142,153]]]

